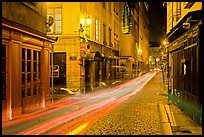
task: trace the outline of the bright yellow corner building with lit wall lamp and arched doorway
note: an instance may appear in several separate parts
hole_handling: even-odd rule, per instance
[[[54,77],[54,86],[84,91],[102,81],[116,79],[119,3],[48,2],[47,5],[48,16],[55,18],[48,35],[58,37],[54,65],[59,68],[59,75]]]

